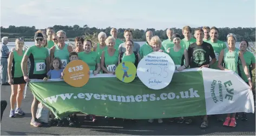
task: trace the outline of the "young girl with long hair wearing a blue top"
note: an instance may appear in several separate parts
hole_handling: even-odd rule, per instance
[[[63,72],[63,69],[61,68],[61,60],[59,58],[54,58],[52,63],[50,64],[50,71],[47,73],[47,78],[44,78],[43,80],[49,79],[58,79],[61,78],[61,73]],[[53,125],[57,122],[57,120],[54,120],[54,114],[51,113],[51,119],[49,120],[48,125]]]

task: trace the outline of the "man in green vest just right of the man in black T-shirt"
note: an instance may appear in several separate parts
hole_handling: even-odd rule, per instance
[[[215,70],[220,70],[220,68],[218,67],[219,53],[221,52],[222,49],[225,49],[227,47],[227,45],[226,45],[226,43],[224,43],[218,39],[219,30],[215,26],[213,26],[210,29],[209,35],[211,37],[211,40],[208,40],[206,42],[213,46],[213,50],[214,50],[214,53],[216,56],[216,62],[211,66],[211,68],[215,69]],[[210,58],[210,60],[212,60],[212,58]]]

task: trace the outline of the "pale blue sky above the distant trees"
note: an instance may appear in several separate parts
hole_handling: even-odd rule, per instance
[[[1,26],[255,27],[255,0],[1,0]]]

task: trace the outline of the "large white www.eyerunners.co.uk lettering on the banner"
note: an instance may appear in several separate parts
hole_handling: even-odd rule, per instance
[[[97,94],[97,93],[78,93],[74,95],[74,93],[65,93],[65,94],[57,94],[55,96],[47,97],[44,99],[46,102],[49,103],[56,103],[58,98],[62,100],[67,99],[85,99],[91,100],[92,98],[96,100],[110,100],[110,101],[117,101],[123,103],[130,103],[130,102],[141,102],[141,101],[155,101],[155,100],[167,100],[167,99],[188,99],[188,98],[197,98],[200,97],[197,90],[189,89],[188,91],[181,91],[179,94],[175,94],[173,92],[169,93],[161,93],[159,97],[153,94],[143,94],[143,95],[136,95],[136,96],[115,96],[115,95],[108,95],[108,94]]]

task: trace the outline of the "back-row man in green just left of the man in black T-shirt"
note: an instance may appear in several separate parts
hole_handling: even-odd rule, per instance
[[[196,42],[195,38],[192,38],[192,28],[190,26],[184,26],[182,28],[182,34],[184,38],[180,41],[180,45],[188,50],[188,46]]]

